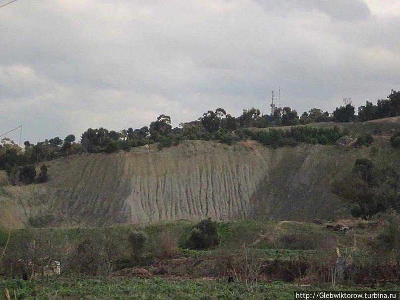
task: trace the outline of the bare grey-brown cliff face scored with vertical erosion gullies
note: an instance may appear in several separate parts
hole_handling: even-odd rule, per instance
[[[45,215],[59,225],[95,226],[328,218],[343,207],[329,182],[350,170],[357,156],[333,146],[272,149],[204,141],[72,156],[47,163],[46,183],[0,186],[0,226],[23,227]]]

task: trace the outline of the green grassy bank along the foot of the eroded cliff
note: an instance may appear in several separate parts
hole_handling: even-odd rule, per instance
[[[174,222],[149,223],[144,225],[117,225],[99,228],[28,228],[11,231],[10,243],[23,241],[30,237],[51,237],[53,243],[73,246],[84,240],[99,240],[100,237],[117,241],[122,248],[128,248],[127,237],[131,230],[142,230],[152,242],[157,242],[159,234],[164,230],[176,233],[179,237],[180,253],[184,256],[198,257],[202,251],[189,251],[185,248],[186,238],[194,225],[194,222],[179,220]],[[268,241],[258,241],[260,237],[278,229],[279,235],[302,234],[315,237],[328,237],[336,235],[343,241],[346,237],[324,229],[323,225],[301,222],[270,222],[255,220],[235,220],[219,223],[221,237],[220,248],[230,248],[232,245],[252,244],[259,249],[276,249],[275,245]],[[8,231],[0,229],[0,247],[7,240]],[[292,249],[292,248],[287,248]],[[209,251],[206,251],[209,252]],[[200,253],[200,254],[199,254]]]

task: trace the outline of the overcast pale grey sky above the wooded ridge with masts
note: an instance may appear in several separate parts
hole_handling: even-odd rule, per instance
[[[375,103],[400,89],[399,14],[399,0],[17,0],[0,8],[0,134],[269,113],[279,89],[299,115]]]

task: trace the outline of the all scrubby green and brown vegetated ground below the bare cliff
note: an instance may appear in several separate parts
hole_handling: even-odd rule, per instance
[[[329,231],[325,225],[299,222],[203,220],[199,224],[213,227],[213,233],[214,225],[218,226],[221,240],[217,247],[181,248],[171,256],[162,253],[158,258],[155,255],[159,248],[185,244],[193,228],[207,226],[177,221],[110,228],[17,230],[11,232],[0,266],[3,275],[14,272],[16,279],[0,277],[0,289],[7,289],[11,295],[15,291],[18,299],[278,300],[292,297],[293,291],[369,290],[365,284],[358,288],[354,284],[368,282],[365,274],[377,272],[375,268],[382,262],[388,264],[387,270],[393,270],[388,274],[392,278],[400,270],[394,267],[400,253],[400,223],[397,217],[388,220],[389,226],[382,228],[362,222],[364,226],[354,226],[346,234]],[[365,239],[364,233],[368,233]],[[376,237],[376,245],[369,242],[371,235]],[[358,240],[353,248],[355,236]],[[0,248],[6,240],[7,233],[0,231]],[[324,272],[335,265],[337,248],[343,251],[351,276],[344,281],[338,279],[340,286],[332,287],[329,275],[323,274],[329,274]],[[139,249],[140,260],[128,260],[132,249],[134,255]],[[60,277],[27,272],[32,271],[31,266],[42,270],[56,260],[61,262]],[[20,279],[21,269],[31,281]],[[254,278],[257,280],[252,281]],[[311,286],[301,287],[299,283]],[[399,287],[387,283],[385,289]]]

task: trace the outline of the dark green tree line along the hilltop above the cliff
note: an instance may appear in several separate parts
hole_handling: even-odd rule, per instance
[[[24,149],[21,149],[12,141],[3,139],[0,143],[0,170],[11,173],[14,167],[35,165],[73,154],[129,151],[132,147],[154,143],[158,143],[161,150],[183,140],[218,140],[231,144],[235,140],[251,138],[264,145],[276,147],[294,146],[297,142],[332,144],[346,132],[338,127],[298,126],[258,132],[249,128],[293,126],[311,122],[365,121],[400,116],[400,92],[392,90],[387,98],[378,100],[377,105],[367,101],[365,106],[358,108],[358,116],[348,100],[333,113],[313,108],[300,117],[290,107],[279,108],[272,116],[263,115],[259,109],[251,108],[243,110],[239,117],[233,117],[225,109],[217,108],[215,111],[205,112],[198,120],[181,123],[179,127],[171,126],[170,116],[160,115],[149,126],[137,129],[129,127],[114,131],[103,127],[89,128],[82,133],[79,141],[70,134],[64,139],[57,136],[36,144],[25,141]],[[398,140],[400,138],[396,142]]]

